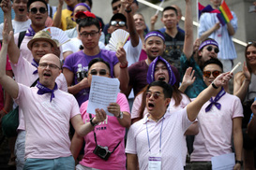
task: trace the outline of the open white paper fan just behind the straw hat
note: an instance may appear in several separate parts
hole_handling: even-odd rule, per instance
[[[59,28],[47,27],[47,28],[43,29],[43,31],[46,31],[49,35],[51,35],[52,39],[57,39],[59,41],[58,46],[61,46],[70,40],[68,35],[63,30],[61,30]]]

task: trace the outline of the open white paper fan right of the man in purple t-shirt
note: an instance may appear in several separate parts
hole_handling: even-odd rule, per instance
[[[128,32],[122,29],[115,30],[111,35],[108,47],[110,50],[116,51],[123,47],[128,40]]]

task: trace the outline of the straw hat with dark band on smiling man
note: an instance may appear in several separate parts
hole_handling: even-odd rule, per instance
[[[47,32],[45,31],[39,31],[36,35],[33,36],[33,38],[27,43],[27,48],[29,50],[32,49],[32,44],[35,42],[35,41],[47,41],[49,42],[50,44],[53,45],[53,48],[57,48],[57,44],[56,42],[58,42],[57,40],[53,40],[51,35],[49,35]],[[55,42],[56,41],[56,42]]]

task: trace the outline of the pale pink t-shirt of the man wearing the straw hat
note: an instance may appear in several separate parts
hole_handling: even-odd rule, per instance
[[[38,73],[33,74],[37,68],[30,64],[26,59],[22,56],[19,57],[19,61],[17,64],[11,64],[13,74],[15,76],[15,80],[18,83],[21,83],[25,86],[30,87],[37,79]],[[66,78],[63,74],[60,74],[58,78],[56,78],[56,83],[58,85],[58,89],[68,92],[68,84]],[[25,130],[24,120],[23,120],[23,110],[19,107],[19,127],[18,130]]]

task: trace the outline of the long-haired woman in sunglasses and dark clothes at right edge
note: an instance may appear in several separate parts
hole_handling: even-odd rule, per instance
[[[247,126],[251,114],[250,105],[256,97],[256,42],[248,44],[245,50],[245,58],[246,62],[244,63],[243,71],[236,73],[233,78],[233,94],[239,97],[244,104],[245,118],[243,120],[243,135],[245,168],[253,169],[253,149],[255,149],[255,142],[248,137]]]

